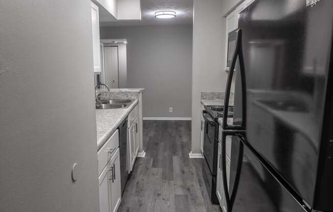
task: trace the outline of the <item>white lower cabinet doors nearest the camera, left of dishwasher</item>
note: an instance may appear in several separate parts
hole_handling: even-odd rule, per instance
[[[99,176],[100,212],[115,212],[121,203],[119,148]]]

